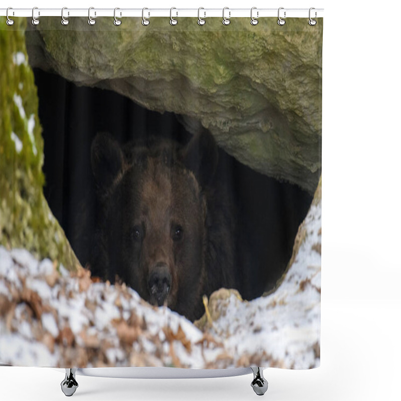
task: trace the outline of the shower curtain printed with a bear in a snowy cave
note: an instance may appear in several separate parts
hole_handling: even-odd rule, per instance
[[[319,366],[323,20],[14,20],[1,363]]]

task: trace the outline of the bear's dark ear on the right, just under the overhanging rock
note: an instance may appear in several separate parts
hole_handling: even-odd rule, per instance
[[[215,138],[204,129],[195,134],[182,151],[182,161],[191,170],[201,187],[206,187],[213,178],[219,152]]]

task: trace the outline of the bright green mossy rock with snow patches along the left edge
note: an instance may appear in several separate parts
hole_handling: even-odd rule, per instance
[[[0,244],[80,265],[43,195],[38,95],[25,44],[25,18],[0,18]]]

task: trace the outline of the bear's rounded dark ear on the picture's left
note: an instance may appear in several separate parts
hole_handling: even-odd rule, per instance
[[[108,133],[96,134],[91,146],[91,165],[99,188],[109,189],[122,174],[124,156],[119,143]]]

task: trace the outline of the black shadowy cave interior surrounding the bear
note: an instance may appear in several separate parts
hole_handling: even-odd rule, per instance
[[[109,132],[121,144],[149,134],[186,143],[191,134],[173,113],[150,111],[115,92],[78,87],[37,68],[34,75],[44,138],[44,194],[85,266],[94,233],[82,216],[96,207],[90,162],[96,133]],[[253,171],[223,149],[219,149],[219,157],[235,176],[238,246],[249,256],[239,261],[243,266],[240,292],[250,300],[272,290],[285,271],[312,195],[297,185]]]

